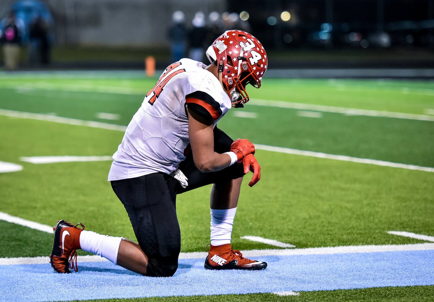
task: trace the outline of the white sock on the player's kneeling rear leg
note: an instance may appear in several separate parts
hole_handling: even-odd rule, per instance
[[[117,265],[118,250],[122,238],[82,230],[80,233],[80,246],[82,250],[104,257]]]

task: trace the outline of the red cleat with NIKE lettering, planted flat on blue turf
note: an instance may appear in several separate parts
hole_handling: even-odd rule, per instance
[[[210,247],[204,267],[205,269],[259,270],[265,269],[267,263],[244,258],[240,251],[232,249],[230,244],[224,244]]]

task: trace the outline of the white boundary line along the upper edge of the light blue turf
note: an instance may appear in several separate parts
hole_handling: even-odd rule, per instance
[[[293,255],[331,255],[346,253],[381,253],[396,251],[421,251],[434,250],[434,243],[402,244],[402,245],[368,245],[368,246],[332,246],[314,247],[306,249],[252,249],[243,250],[243,256],[247,258],[261,256],[293,256]],[[179,259],[205,259],[207,252],[181,253]],[[97,255],[78,256],[78,262],[103,262],[109,261]],[[0,265],[12,264],[45,264],[49,263],[49,257],[17,257],[0,258]]]

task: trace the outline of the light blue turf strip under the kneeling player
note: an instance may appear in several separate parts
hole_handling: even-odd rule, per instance
[[[110,262],[79,263],[58,274],[47,264],[1,265],[0,301],[59,301],[151,296],[317,291],[434,285],[434,250],[266,256],[263,271],[209,271],[180,259],[173,277],[151,278]]]

